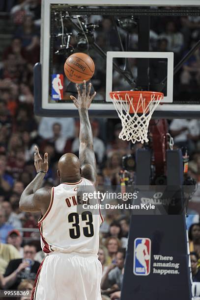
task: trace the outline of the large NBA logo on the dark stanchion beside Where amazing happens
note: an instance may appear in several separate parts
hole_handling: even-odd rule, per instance
[[[135,275],[149,275],[151,259],[151,240],[137,238],[134,241],[133,273]]]

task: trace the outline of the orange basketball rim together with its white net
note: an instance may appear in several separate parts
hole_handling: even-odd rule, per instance
[[[110,93],[110,99],[121,120],[119,138],[126,141],[148,142],[148,125],[156,107],[163,100],[160,92],[117,91]]]

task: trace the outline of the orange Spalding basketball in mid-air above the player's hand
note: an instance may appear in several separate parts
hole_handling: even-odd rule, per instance
[[[85,53],[74,53],[70,55],[64,64],[64,73],[67,78],[75,83],[88,81],[94,74],[94,62]]]

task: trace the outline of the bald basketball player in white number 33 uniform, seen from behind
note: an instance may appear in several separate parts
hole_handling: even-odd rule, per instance
[[[66,153],[58,161],[60,184],[41,188],[48,171],[48,154],[41,158],[35,146],[36,177],[20,199],[20,209],[41,212],[38,226],[46,257],[40,265],[31,300],[101,300],[102,267],[98,260],[100,211],[77,213],[77,190],[97,186],[93,137],[88,117],[91,84],[86,91],[77,86],[78,98],[71,96],[80,116],[79,159]],[[95,201],[95,200],[94,200]],[[98,201],[98,200],[97,200]],[[94,202],[95,203],[95,202]],[[93,204],[93,203],[92,203]]]

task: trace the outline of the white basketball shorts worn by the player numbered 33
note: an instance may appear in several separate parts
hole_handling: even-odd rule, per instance
[[[31,300],[101,300],[97,255],[51,252],[35,279]]]

